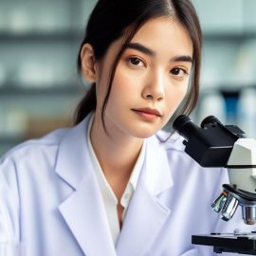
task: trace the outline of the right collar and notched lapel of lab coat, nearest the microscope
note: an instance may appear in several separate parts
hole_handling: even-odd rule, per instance
[[[171,213],[157,195],[172,186],[173,178],[166,152],[152,137],[147,141],[146,158],[137,190],[124,218],[117,245],[118,255],[143,255],[146,247],[154,241]]]

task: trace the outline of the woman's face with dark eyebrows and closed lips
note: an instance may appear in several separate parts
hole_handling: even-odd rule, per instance
[[[97,64],[97,109],[105,97],[111,64],[122,44],[114,42]],[[105,111],[113,136],[151,137],[174,114],[189,85],[192,40],[177,21],[155,18],[137,31],[122,54]]]

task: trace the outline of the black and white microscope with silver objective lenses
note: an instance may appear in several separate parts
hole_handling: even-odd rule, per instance
[[[202,167],[228,168],[230,184],[223,184],[212,210],[229,221],[240,206],[244,222],[256,224],[256,140],[247,138],[235,125],[223,125],[214,116],[204,119],[199,127],[181,115],[173,127],[185,138],[185,152]],[[192,244],[211,246],[216,253],[256,255],[256,232],[192,235]]]

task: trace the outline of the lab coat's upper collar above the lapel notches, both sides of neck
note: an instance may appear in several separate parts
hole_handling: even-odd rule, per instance
[[[86,145],[86,130],[91,119],[88,115],[80,124],[70,129],[61,141],[56,160],[56,173],[73,189],[82,182],[84,175],[92,174],[93,166]],[[157,137],[146,139],[146,172],[148,189],[153,194],[173,186],[172,172],[162,142]],[[86,169],[83,170],[82,168]],[[87,172],[88,169],[90,172]]]

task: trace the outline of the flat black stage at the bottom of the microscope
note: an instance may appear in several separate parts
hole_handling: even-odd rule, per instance
[[[192,235],[192,244],[213,247],[216,253],[236,252],[256,255],[256,233],[212,233]]]

